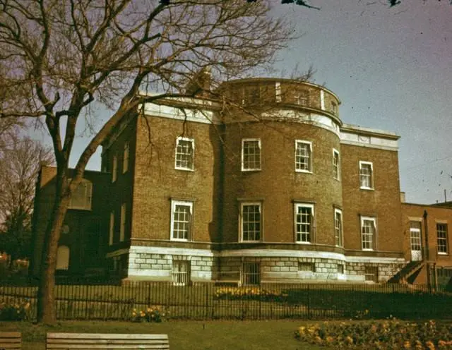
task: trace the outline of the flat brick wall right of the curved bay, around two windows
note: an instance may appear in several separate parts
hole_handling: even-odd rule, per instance
[[[340,145],[345,248],[361,251],[360,215],[375,216],[377,251],[402,251],[398,152]],[[374,190],[360,189],[359,161],[372,162]]]

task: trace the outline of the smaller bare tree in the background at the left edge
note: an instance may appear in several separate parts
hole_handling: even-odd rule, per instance
[[[40,164],[52,164],[52,150],[16,133],[0,135],[0,250],[11,262],[30,254],[35,181]]]

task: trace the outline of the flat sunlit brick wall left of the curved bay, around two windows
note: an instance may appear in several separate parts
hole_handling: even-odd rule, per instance
[[[207,123],[138,117],[133,191],[133,238],[169,239],[171,198],[194,200],[194,241],[218,237],[220,138]],[[148,129],[149,127],[149,129]],[[194,171],[174,169],[176,140],[194,138]]]

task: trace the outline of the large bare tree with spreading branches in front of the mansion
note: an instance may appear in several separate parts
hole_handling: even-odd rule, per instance
[[[0,0],[0,116],[44,120],[57,162],[46,234],[38,321],[54,322],[57,246],[71,193],[112,129],[145,102],[191,97],[208,68],[211,83],[271,62],[293,35],[269,1]],[[143,87],[160,91],[139,94]],[[66,176],[78,119],[94,101],[116,107]],[[64,135],[61,124],[65,123]]]

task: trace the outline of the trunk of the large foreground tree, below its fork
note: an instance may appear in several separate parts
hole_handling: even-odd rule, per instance
[[[42,251],[42,263],[40,269],[40,284],[37,291],[37,322],[51,324],[56,322],[55,312],[55,268],[57,267],[58,242],[63,226],[64,217],[69,206],[68,185],[66,183],[65,170],[63,174],[57,174],[57,193],[52,215],[47,225],[44,246]]]

